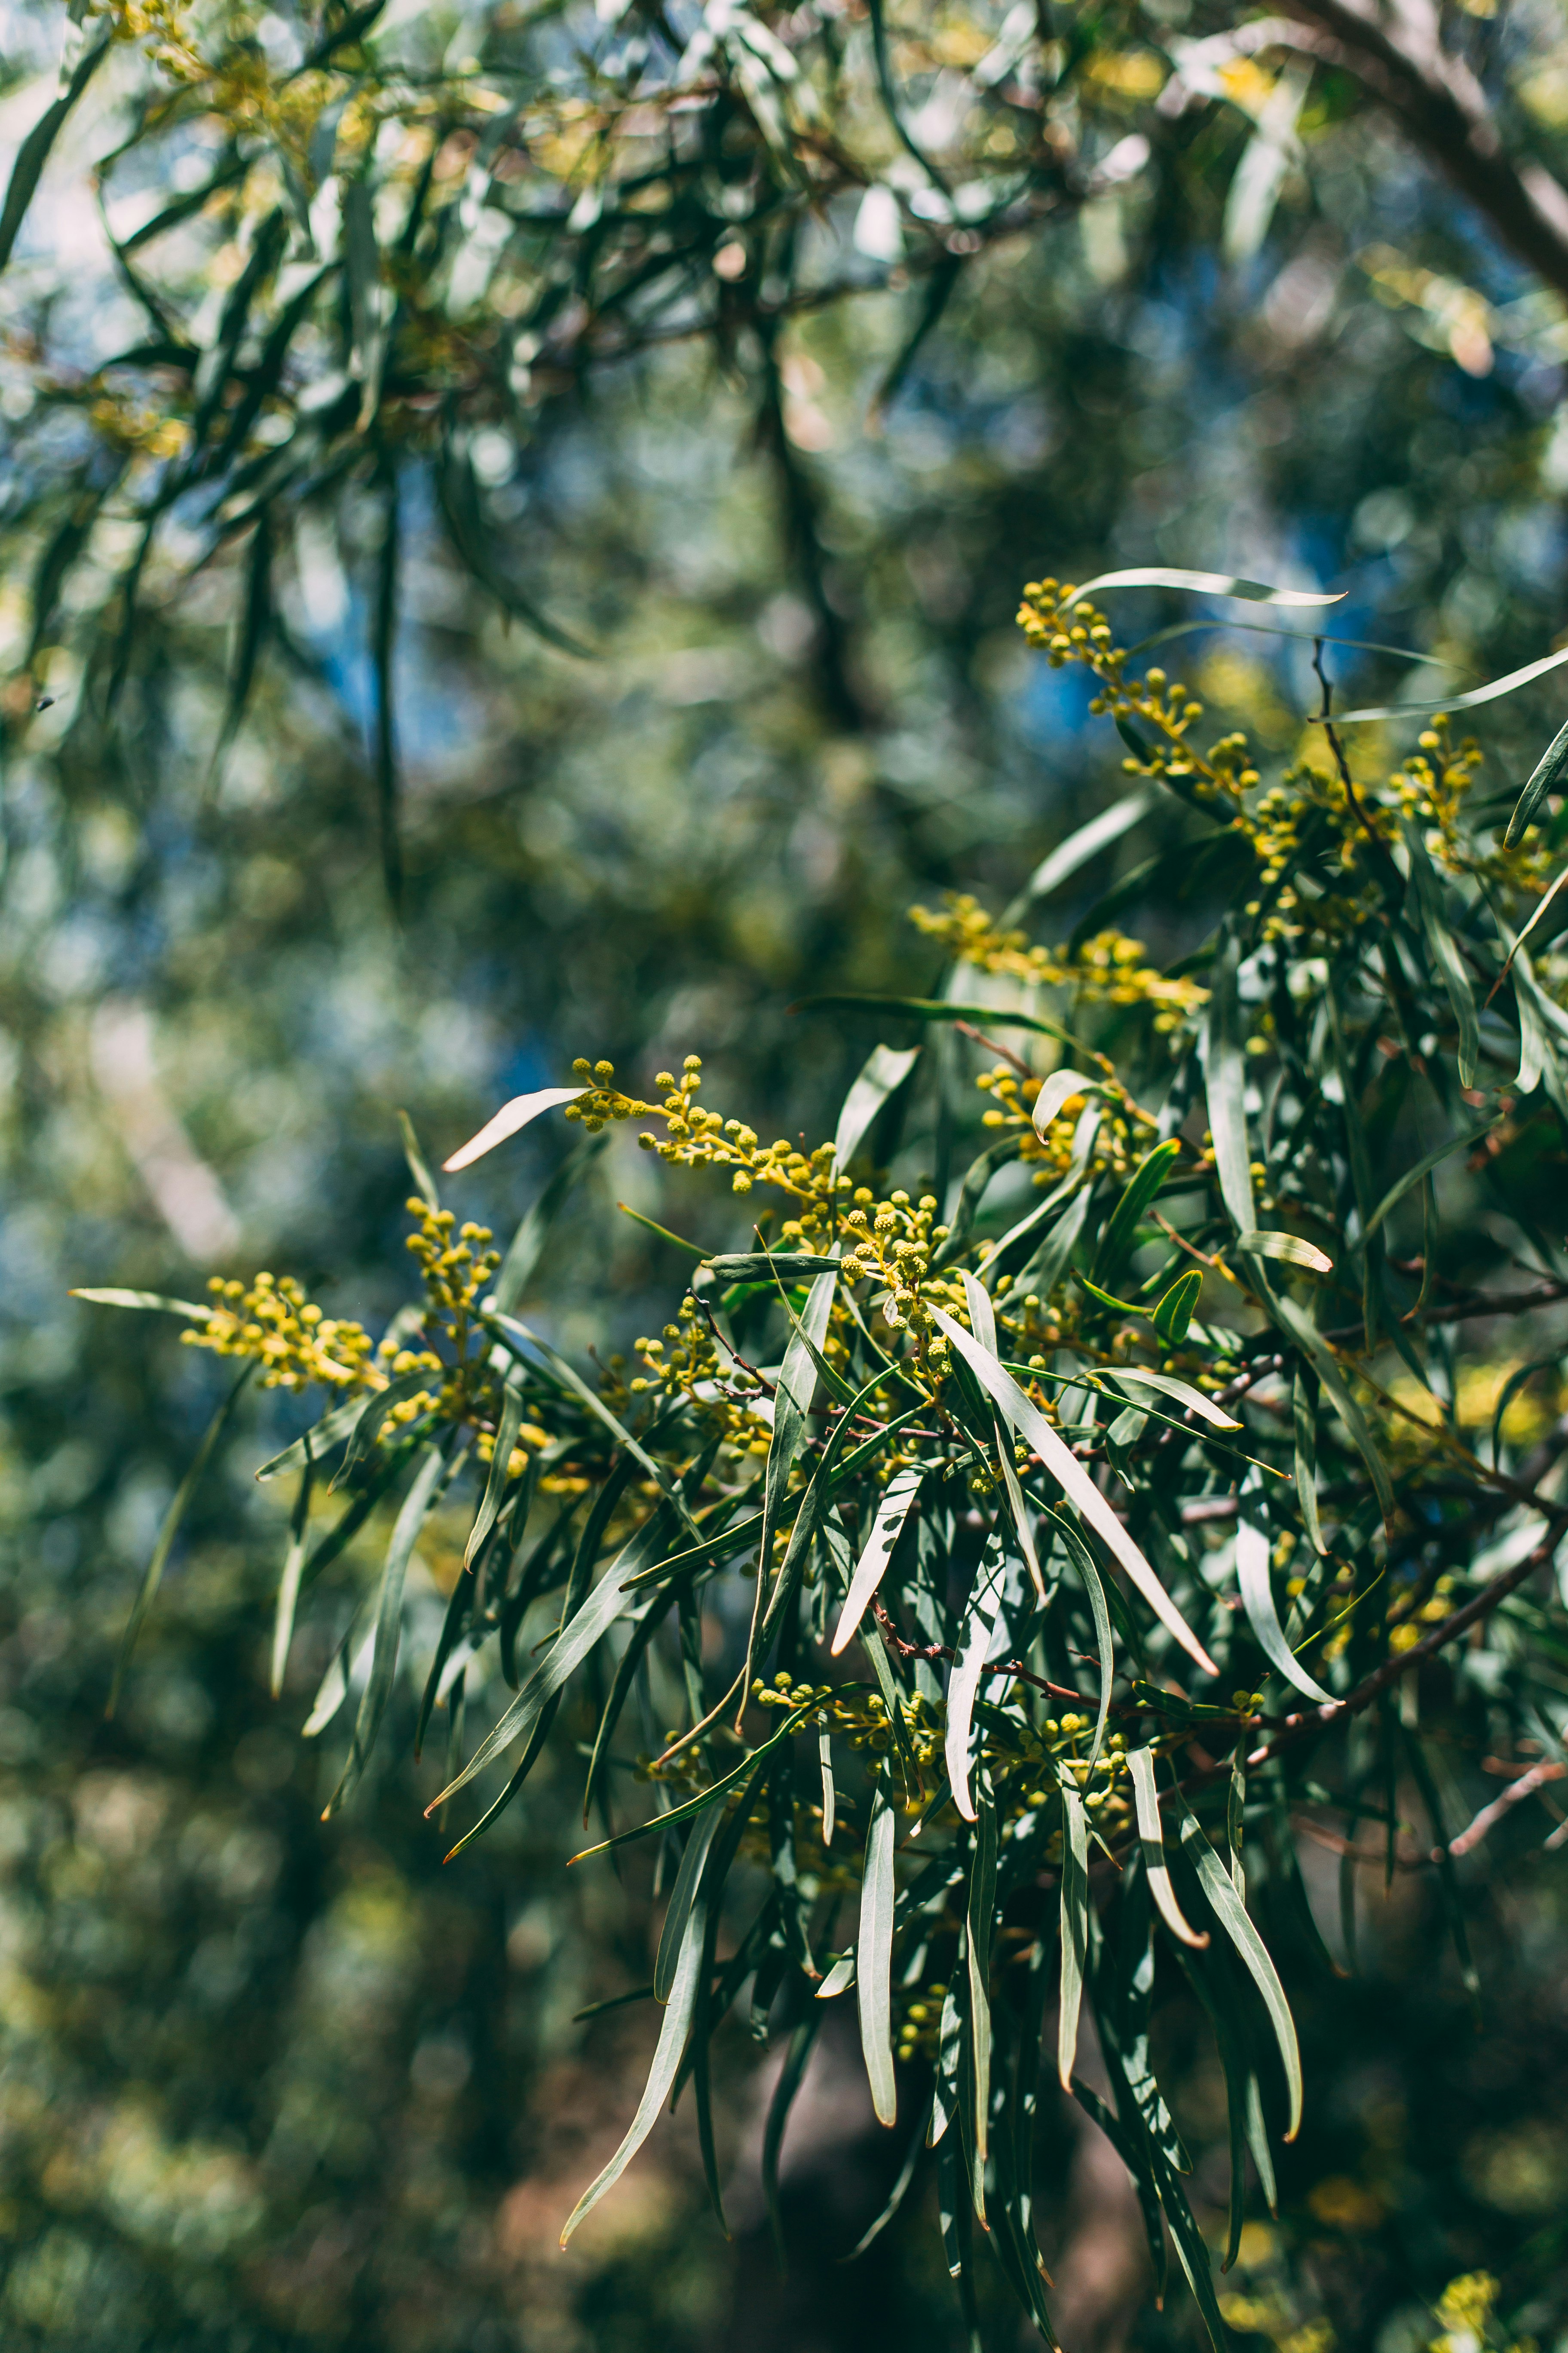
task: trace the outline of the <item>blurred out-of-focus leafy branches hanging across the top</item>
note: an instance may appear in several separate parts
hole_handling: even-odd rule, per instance
[[[59,94],[0,207],[0,268],[87,111],[115,296],[103,311],[129,304],[134,332],[113,348],[56,334],[49,271],[7,327],[5,532],[28,581],[12,718],[40,692],[113,715],[139,614],[216,569],[235,607],[233,734],[268,647],[320,668],[289,588],[315,562],[301,520],[327,527],[369,569],[371,765],[397,889],[409,515],[430,487],[458,567],[508,616],[581,649],[583,633],[552,619],[534,518],[520,525],[552,412],[628,358],[701,341],[748,384],[802,586],[835,640],[813,428],[785,351],[795,320],[907,292],[872,400],[884,409],[976,256],[1154,174],[1180,181],[1199,216],[1229,181],[1222,247],[1232,261],[1255,252],[1307,115],[1328,134],[1356,89],[1549,285],[1568,285],[1549,205],[1493,153],[1476,80],[1495,80],[1493,59],[1472,66],[1462,28],[1453,56],[1415,64],[1335,0],[1298,14],[1215,9],[1194,38],[1171,7],[999,0],[929,24],[891,21],[882,0],[487,0],[456,26],[383,0],[320,14],[78,0]],[[1540,49],[1519,40],[1507,78],[1528,87]],[[1328,87],[1307,106],[1319,68]],[[1406,278],[1385,266],[1378,282]],[[825,687],[853,718],[837,654]]]

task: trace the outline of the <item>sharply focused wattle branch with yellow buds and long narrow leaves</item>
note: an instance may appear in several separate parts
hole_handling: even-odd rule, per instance
[[[1324,602],[1164,572],[1091,591],[1161,581]],[[1302,2115],[1295,2026],[1253,1920],[1267,1889],[1319,1934],[1295,1824],[1347,1866],[1432,1871],[1474,1984],[1460,1864],[1509,1807],[1549,1805],[1566,1755],[1568,1012],[1528,944],[1549,932],[1542,885],[1568,833],[1563,739],[1523,795],[1488,802],[1474,746],[1453,748],[1446,725],[1378,781],[1324,711],[1321,751],[1265,784],[1234,736],[1199,751],[1192,696],[1147,668],[1133,680],[1143,656],[1091,591],[1039,584],[1025,626],[1095,671],[1133,746],[1112,831],[1173,793],[1201,831],[1161,856],[1227,878],[1215,929],[1175,974],[1187,995],[1119,1002],[1093,969],[1079,986],[1072,955],[1053,981],[1020,972],[1013,925],[961,911],[966,962],[940,995],[867,1002],[922,1038],[983,1019],[1034,1052],[992,1047],[980,1075],[1004,1108],[969,1169],[943,1165],[952,1099],[926,1045],[877,1047],[811,1153],[701,1108],[696,1056],[646,1101],[583,1061],[447,1162],[468,1167],[550,1108],[588,1129],[503,1259],[482,1228],[454,1240],[409,1136],[425,1299],[374,1353],[339,1325],[327,1384],[353,1393],[261,1473],[299,1478],[275,1680],[301,1600],[395,1501],[381,1579],[306,1727],[357,1689],[331,1812],[383,1729],[421,1527],[470,1461],[487,1466],[423,1673],[416,1748],[437,1706],[449,1725],[433,1809],[510,1762],[465,1847],[578,1685],[597,1711],[588,1852],[651,1840],[658,1871],[675,1866],[642,1988],[663,2007],[646,2092],[564,2235],[684,2085],[719,2200],[710,2042],[748,1986],[752,2033],[788,2035],[764,2139],[773,2191],[823,2005],[853,1986],[877,2115],[910,2132],[889,2212],[933,2148],[966,2308],[985,2245],[1053,2341],[1032,2162],[1056,2002],[1063,2087],[1138,2186],[1157,2278],[1173,2245],[1222,2344],[1150,2045],[1159,1974],[1182,1972],[1218,2042],[1229,2264],[1248,2165],[1272,2200],[1269,2137]],[[1105,838],[1100,816],[1058,847],[1025,904]],[[1091,908],[1079,932],[1105,936],[1112,913]],[[1081,1038],[1095,1021],[1110,1052]],[[517,1306],[614,1122],[649,1122],[649,1148],[783,1195],[790,1217],[773,1235],[769,1209],[750,1252],[686,1245],[679,1320],[639,1341],[639,1374],[616,1358],[590,1381]],[[910,1184],[891,1184],[900,1155]],[[1495,1266],[1523,1280],[1488,1289]],[[249,1306],[277,1289],[259,1278]],[[320,1377],[322,1325],[294,1294],[282,1341],[277,1318],[242,1322],[228,1292],[214,1308],[96,1297],[174,1306],[197,1344],[266,1377]],[[317,1532],[339,1449],[348,1501]],[[470,1687],[489,1722],[465,1753]],[[1462,1821],[1467,1741],[1516,1774]],[[1406,1786],[1429,1824],[1415,1852]],[[759,1901],[726,1932],[743,1864],[762,1871]],[[1342,1944],[1354,1962],[1354,1868]],[[1086,2014],[1110,2099],[1079,2073]]]

